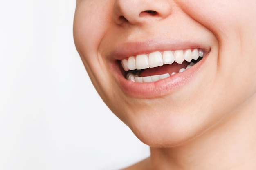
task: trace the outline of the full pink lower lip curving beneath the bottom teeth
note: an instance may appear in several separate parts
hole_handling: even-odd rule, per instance
[[[180,88],[185,86],[195,77],[196,73],[204,63],[204,60],[207,57],[203,57],[197,64],[189,68],[188,70],[171,75],[166,79],[159,80],[157,82],[148,82],[148,83],[138,83],[132,82],[125,79],[125,77],[120,73],[117,74],[117,79],[121,85],[122,91],[128,96],[133,98],[154,98],[168,95],[170,93],[175,93]]]

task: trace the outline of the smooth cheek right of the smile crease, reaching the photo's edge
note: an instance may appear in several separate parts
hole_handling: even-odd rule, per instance
[[[252,51],[256,48],[255,0],[181,0],[179,3],[189,17],[216,35],[219,43],[219,67],[226,72],[234,70],[232,67],[237,67],[237,63],[240,63],[240,72],[246,67],[253,68],[250,60],[255,61]],[[227,77],[232,75],[228,74],[230,73],[227,73]]]

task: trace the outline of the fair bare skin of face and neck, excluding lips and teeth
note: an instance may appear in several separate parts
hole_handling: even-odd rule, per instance
[[[126,170],[255,169],[255,6],[254,0],[77,0],[74,42],[88,75],[112,112],[150,146],[150,157]],[[111,55],[127,42],[152,49],[172,42],[169,50],[192,42],[210,51],[184,85],[141,97],[124,91]]]

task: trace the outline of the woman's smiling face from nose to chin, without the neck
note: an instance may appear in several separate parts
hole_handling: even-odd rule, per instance
[[[74,42],[112,112],[142,142],[176,146],[255,93],[255,6],[255,0],[77,0]]]

